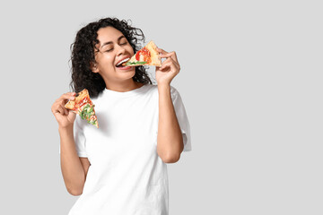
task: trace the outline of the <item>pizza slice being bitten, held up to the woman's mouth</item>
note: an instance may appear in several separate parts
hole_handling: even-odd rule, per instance
[[[162,66],[162,59],[156,50],[156,45],[150,41],[145,47],[140,49],[128,61],[122,65],[136,66],[136,65],[156,65]]]

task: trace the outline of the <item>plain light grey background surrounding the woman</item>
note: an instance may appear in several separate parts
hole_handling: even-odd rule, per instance
[[[1,214],[67,214],[57,122],[77,30],[130,19],[176,51],[192,147],[170,164],[170,215],[322,214],[319,1],[0,4]],[[151,71],[153,73],[153,70]]]

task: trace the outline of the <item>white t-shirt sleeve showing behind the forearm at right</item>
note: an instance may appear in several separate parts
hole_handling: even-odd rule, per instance
[[[173,102],[176,116],[179,121],[179,127],[180,127],[181,133],[183,135],[183,143],[184,143],[184,150],[183,151],[192,150],[188,115],[185,110],[183,101],[179,95],[179,91],[176,90],[174,87],[170,86],[170,95],[171,95],[171,100]]]

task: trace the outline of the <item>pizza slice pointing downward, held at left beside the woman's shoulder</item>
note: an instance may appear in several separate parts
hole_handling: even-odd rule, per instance
[[[95,116],[94,105],[90,99],[89,91],[84,89],[76,94],[74,100],[69,100],[65,107],[73,110],[75,114],[81,116],[82,119],[86,119],[89,124],[95,125],[99,128],[97,116]]]

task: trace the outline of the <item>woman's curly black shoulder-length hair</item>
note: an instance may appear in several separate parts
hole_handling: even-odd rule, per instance
[[[131,22],[131,21],[130,21]],[[93,73],[91,64],[95,63],[94,52],[98,51],[96,45],[100,42],[98,38],[98,30],[111,26],[120,30],[126,37],[127,41],[133,47],[134,52],[141,47],[138,41],[144,42],[144,33],[142,30],[132,27],[125,20],[118,20],[118,18],[104,18],[98,22],[91,22],[76,34],[74,43],[71,45],[71,61],[72,61],[72,81],[70,87],[73,91],[79,92],[83,89],[89,91],[90,97],[97,97],[101,91],[106,87],[103,78],[99,73]],[[135,67],[135,75],[133,77],[135,82],[150,83],[153,82],[148,76],[144,66]]]

